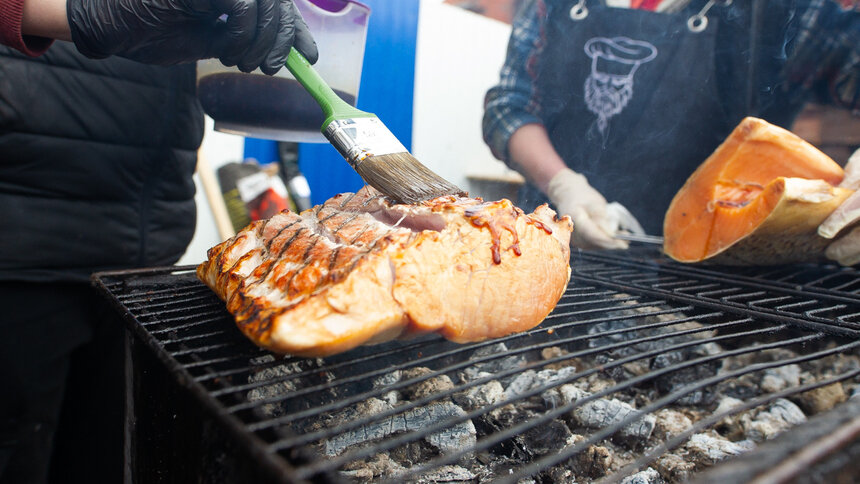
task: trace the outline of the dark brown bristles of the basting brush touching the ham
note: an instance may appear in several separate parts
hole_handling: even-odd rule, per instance
[[[355,171],[368,185],[398,203],[465,194],[407,152],[368,156],[355,166]]]

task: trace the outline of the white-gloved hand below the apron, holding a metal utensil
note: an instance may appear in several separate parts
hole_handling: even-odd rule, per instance
[[[606,199],[581,174],[565,168],[547,186],[547,196],[561,215],[573,220],[571,245],[582,249],[626,249],[628,244],[613,235],[619,229],[638,231],[642,227],[623,205]]]

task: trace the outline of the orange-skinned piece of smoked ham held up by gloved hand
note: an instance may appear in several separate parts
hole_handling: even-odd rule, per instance
[[[818,226],[853,190],[842,168],[797,135],[745,118],[690,176],[664,220],[680,262],[771,265],[822,258]]]

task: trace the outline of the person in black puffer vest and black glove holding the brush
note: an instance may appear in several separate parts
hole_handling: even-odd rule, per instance
[[[122,325],[89,276],[194,234],[193,62],[316,45],[289,0],[0,0],[0,44],[0,482],[122,482]]]

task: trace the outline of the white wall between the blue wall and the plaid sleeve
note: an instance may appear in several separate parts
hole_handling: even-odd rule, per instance
[[[421,0],[415,66],[412,154],[468,189],[467,176],[517,178],[484,144],[484,94],[499,80],[511,27]]]

